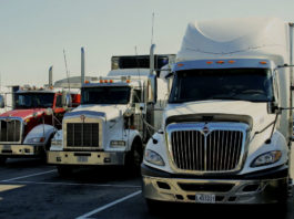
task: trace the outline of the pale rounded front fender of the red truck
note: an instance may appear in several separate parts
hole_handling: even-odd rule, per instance
[[[31,129],[31,132],[26,136],[23,144],[28,145],[45,145],[50,137],[57,132],[57,128],[52,125],[47,125],[47,124],[40,124],[36,126],[34,128]],[[32,138],[40,138],[44,137],[44,142],[42,143],[32,143],[30,139]]]

